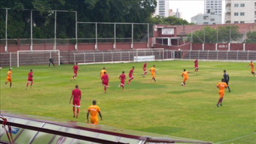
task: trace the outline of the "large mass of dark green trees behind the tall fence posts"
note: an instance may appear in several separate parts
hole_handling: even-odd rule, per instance
[[[75,38],[75,13],[78,21],[111,23],[149,23],[155,12],[156,0],[1,0],[1,9],[8,10],[8,38],[30,38],[30,10],[32,12],[33,38],[54,38],[55,13],[52,10],[69,10],[57,12],[57,38]],[[28,10],[23,10],[28,9]],[[5,38],[6,11],[0,14],[0,38]],[[118,25],[118,36],[130,36],[131,26]],[[103,32],[104,31],[104,32]],[[139,38],[147,31],[147,25],[134,27],[134,38]],[[113,35],[111,25],[98,27],[98,37]],[[79,25],[78,38],[95,38],[94,25]],[[117,37],[118,37],[117,36]],[[114,37],[114,36],[111,36]]]

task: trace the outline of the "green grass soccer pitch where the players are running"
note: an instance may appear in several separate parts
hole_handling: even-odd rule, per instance
[[[179,136],[213,143],[255,143],[256,77],[244,62],[199,62],[199,73],[193,73],[192,61],[148,62],[156,64],[157,83],[151,75],[142,77],[140,63],[79,65],[78,77],[71,82],[71,64],[48,68],[21,66],[12,69],[13,88],[4,86],[8,67],[1,69],[1,110],[26,115],[53,117],[86,123],[88,106],[96,99],[103,115],[100,125]],[[122,71],[128,77],[135,67],[135,79],[125,91],[118,88]],[[104,93],[100,70],[106,67],[109,88]],[[34,71],[33,88],[25,85],[30,69]],[[181,86],[183,69],[190,71],[186,87]],[[230,75],[231,93],[224,94],[223,106],[216,85],[226,69]],[[73,118],[70,96],[75,85],[82,91],[78,119]]]

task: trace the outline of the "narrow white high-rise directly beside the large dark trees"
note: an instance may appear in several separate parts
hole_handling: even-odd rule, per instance
[[[158,0],[158,5],[156,7],[156,13],[153,16],[162,16],[168,17],[169,16],[169,1],[165,0]]]

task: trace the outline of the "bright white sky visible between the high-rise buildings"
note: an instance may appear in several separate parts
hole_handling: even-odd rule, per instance
[[[173,9],[173,12],[179,9],[182,12],[182,19],[191,22],[191,17],[198,13],[204,14],[204,0],[168,0],[169,9]],[[222,0],[222,23],[224,22],[225,12],[225,0]]]

